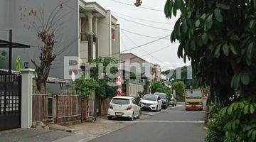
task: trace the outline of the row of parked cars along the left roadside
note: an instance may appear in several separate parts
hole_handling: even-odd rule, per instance
[[[142,110],[157,112],[167,109],[170,103],[176,106],[176,99],[169,102],[167,95],[161,92],[146,94],[139,102],[134,97],[114,97],[107,111],[107,119],[124,117],[133,121],[140,117]]]

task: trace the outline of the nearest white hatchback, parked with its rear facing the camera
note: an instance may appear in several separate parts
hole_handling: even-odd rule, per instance
[[[107,111],[107,119],[126,117],[132,121],[140,116],[139,103],[133,97],[114,97]]]

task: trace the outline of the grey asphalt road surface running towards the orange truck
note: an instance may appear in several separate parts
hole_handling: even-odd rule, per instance
[[[200,142],[206,134],[203,129],[204,115],[204,111],[184,111],[184,106],[180,104],[92,142]]]

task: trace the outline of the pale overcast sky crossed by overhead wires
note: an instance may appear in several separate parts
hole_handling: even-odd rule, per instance
[[[89,0],[93,1],[93,0]],[[94,0],[95,1],[95,0]],[[148,43],[152,40],[156,40],[156,38],[161,38],[166,35],[171,34],[171,30],[174,28],[174,23],[177,18],[166,19],[164,15],[164,4],[166,0],[142,0],[142,7],[146,9],[137,8],[135,6],[129,6],[125,4],[133,4],[135,0],[96,0],[101,6],[105,9],[110,9],[112,14],[118,19],[118,23],[120,23],[121,28],[124,30],[120,30],[121,33],[121,50],[128,50],[129,48],[134,48],[137,45],[142,45],[144,43]],[[120,4],[118,3],[125,3]],[[156,10],[148,10],[156,9]],[[128,17],[129,16],[129,17]],[[132,18],[131,18],[132,17]],[[129,20],[125,20],[125,19]],[[142,21],[136,18],[144,19],[146,21]],[[149,25],[153,27],[143,26],[137,23],[132,23],[131,21],[141,23],[144,25]],[[156,22],[149,22],[156,21]],[[147,38],[141,35],[135,35],[132,33],[140,33],[142,35],[153,36],[156,38]],[[167,37],[169,38],[169,37]],[[164,48],[168,45],[171,45],[169,48]],[[155,52],[151,55],[147,55],[148,53],[152,53],[156,50],[160,50],[159,52]],[[138,56],[143,56],[145,60],[152,62],[154,64],[161,65],[162,70],[166,70],[167,68],[181,67],[185,65],[183,59],[179,59],[177,57],[177,49],[178,43],[171,43],[170,40],[159,40],[155,43],[145,45],[141,48],[137,48],[135,50],[129,51],[130,53],[134,53]],[[129,53],[128,52],[128,53]],[[189,62],[186,63],[189,65]]]

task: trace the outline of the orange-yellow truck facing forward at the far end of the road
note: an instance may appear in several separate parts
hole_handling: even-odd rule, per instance
[[[202,89],[186,89],[185,92],[186,110],[203,110]]]

